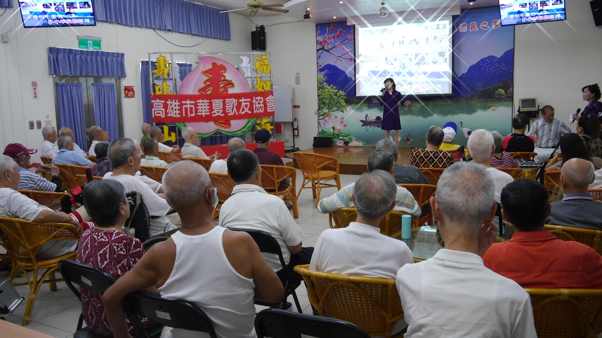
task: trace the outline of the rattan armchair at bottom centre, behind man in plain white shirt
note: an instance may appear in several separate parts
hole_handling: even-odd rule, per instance
[[[403,319],[402,302],[394,279],[329,274],[297,265],[303,275],[309,303],[320,316],[358,325],[370,336],[391,337]],[[403,337],[403,332],[393,337]]]

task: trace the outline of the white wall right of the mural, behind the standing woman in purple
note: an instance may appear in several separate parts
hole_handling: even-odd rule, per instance
[[[587,104],[581,88],[602,85],[602,26],[594,25],[589,1],[566,1],[566,17],[516,26],[514,106],[521,97],[537,97],[540,106],[553,106],[556,118],[568,124],[570,115]]]

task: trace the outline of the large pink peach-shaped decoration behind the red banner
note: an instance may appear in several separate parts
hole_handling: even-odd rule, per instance
[[[227,79],[234,82],[234,87],[229,88],[228,93],[246,93],[251,91],[247,80],[234,66],[219,58],[202,57],[199,58],[199,66],[193,69],[186,78],[184,78],[184,81],[182,81],[178,94],[199,94],[199,88],[205,86],[203,81],[207,79],[207,76],[202,72],[211,68],[212,62],[223,64],[223,66],[228,69],[224,75],[226,75]],[[226,134],[235,133],[245,128],[247,124],[249,124],[249,119],[225,122],[187,122],[186,126],[194,128],[199,134],[210,135],[215,131],[223,131]]]

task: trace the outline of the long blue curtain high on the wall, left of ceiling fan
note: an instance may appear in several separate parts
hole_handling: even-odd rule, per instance
[[[95,0],[94,8],[99,21],[230,40],[228,13],[194,2]]]

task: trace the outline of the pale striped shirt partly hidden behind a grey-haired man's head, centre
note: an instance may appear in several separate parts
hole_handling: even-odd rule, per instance
[[[330,212],[341,209],[341,207],[355,206],[352,200],[354,186],[355,182],[344,186],[343,189],[337,191],[334,195],[323,198],[318,204],[318,211],[321,214],[330,214]],[[402,186],[397,186],[397,195],[393,210],[406,212],[414,216],[420,216],[421,214],[420,206],[414,200],[414,196],[412,196],[408,189]]]

